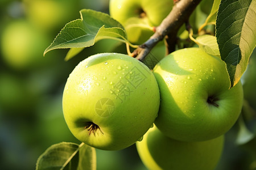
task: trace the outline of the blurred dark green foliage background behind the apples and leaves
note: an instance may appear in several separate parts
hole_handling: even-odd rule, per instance
[[[198,21],[207,17],[207,8],[197,8]],[[44,49],[64,25],[80,18],[82,8],[109,13],[106,0],[1,0],[0,1],[0,169],[35,169],[38,157],[51,145],[75,142],[62,113],[65,82],[84,58],[101,52],[126,53],[125,45],[101,40],[78,56],[64,61],[68,49]],[[207,6],[208,5],[208,6]],[[205,12],[206,11],[206,12]],[[201,24],[201,23],[199,23]],[[246,122],[250,141],[237,145],[240,127],[226,134],[224,154],[217,169],[256,169],[256,52],[244,74]],[[242,133],[248,137],[247,133]],[[121,151],[97,150],[97,169],[146,169],[135,145]]]

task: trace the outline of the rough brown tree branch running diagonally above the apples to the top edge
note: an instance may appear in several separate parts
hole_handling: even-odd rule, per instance
[[[150,53],[150,50],[165,37],[167,38],[168,52],[174,51],[179,28],[188,21],[189,16],[200,2],[201,0],[180,0],[176,2],[170,14],[156,27],[154,35],[135,49],[133,56],[136,56],[139,61],[143,61],[147,54]]]

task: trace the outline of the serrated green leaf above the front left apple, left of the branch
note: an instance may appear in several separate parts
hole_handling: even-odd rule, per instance
[[[81,19],[73,20],[61,29],[52,44],[44,51],[44,55],[53,49],[85,48],[101,39],[127,42],[125,28],[108,14],[84,9],[80,11],[80,15]],[[74,54],[72,50],[68,58]]]

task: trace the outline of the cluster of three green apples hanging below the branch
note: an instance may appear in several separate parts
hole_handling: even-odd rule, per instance
[[[110,4],[118,2],[126,1]],[[77,139],[101,150],[136,143],[154,170],[214,169],[242,103],[241,82],[230,88],[225,63],[199,48],[176,50],[153,70],[125,54],[96,54],[75,67],[63,93]]]

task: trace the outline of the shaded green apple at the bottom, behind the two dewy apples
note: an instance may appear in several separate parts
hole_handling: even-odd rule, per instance
[[[202,142],[181,142],[166,137],[158,128],[150,128],[141,142],[138,154],[148,169],[214,169],[221,157],[224,135]]]

